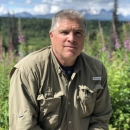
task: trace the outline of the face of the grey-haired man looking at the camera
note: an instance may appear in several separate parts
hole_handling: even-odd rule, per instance
[[[84,45],[84,25],[80,21],[64,19],[58,23],[50,39],[55,56],[60,61],[74,61]]]

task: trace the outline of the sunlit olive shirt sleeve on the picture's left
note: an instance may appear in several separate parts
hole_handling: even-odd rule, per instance
[[[43,130],[37,122],[34,88],[36,85],[29,75],[13,69],[9,91],[9,130]]]

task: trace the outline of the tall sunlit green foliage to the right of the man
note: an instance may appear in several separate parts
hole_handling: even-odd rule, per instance
[[[104,29],[104,28],[103,28]],[[109,51],[109,35],[105,35],[107,50],[102,52],[100,31],[90,34],[90,40],[85,42],[86,53],[101,60],[107,68],[108,86],[111,96],[113,114],[110,120],[110,130],[130,129],[130,50],[124,49],[124,41],[129,40],[130,24],[120,26],[121,48],[115,52]],[[94,30],[93,30],[94,31]],[[96,48],[96,49],[95,49]]]

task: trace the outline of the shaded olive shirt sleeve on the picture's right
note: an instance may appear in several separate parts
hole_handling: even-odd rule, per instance
[[[107,73],[103,66],[101,86],[97,91],[97,97],[93,114],[90,119],[89,130],[108,130],[108,123],[112,115],[112,107],[107,85]]]

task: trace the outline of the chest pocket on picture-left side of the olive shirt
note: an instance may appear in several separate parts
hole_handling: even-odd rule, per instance
[[[40,106],[39,124],[41,128],[53,130],[58,125],[62,96],[62,91],[54,95],[51,93],[38,95],[37,100]]]

